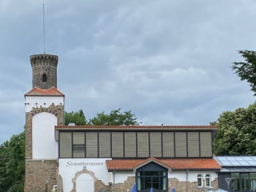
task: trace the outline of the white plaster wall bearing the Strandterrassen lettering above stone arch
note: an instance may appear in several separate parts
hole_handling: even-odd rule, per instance
[[[111,181],[111,173],[106,168],[106,160],[110,158],[60,158],[59,174],[62,175],[63,191],[69,192],[73,188],[72,178],[83,170],[90,170],[106,185]]]

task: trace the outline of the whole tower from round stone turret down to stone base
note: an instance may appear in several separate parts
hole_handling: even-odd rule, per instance
[[[64,98],[57,89],[58,56],[30,56],[32,90],[25,94],[25,192],[51,191],[58,178],[58,136],[54,126],[64,124]]]

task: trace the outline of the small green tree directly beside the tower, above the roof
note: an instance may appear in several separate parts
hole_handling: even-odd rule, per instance
[[[69,125],[70,122],[74,122],[77,126],[85,126],[86,116],[82,110],[78,110],[78,112],[65,112],[65,125]]]

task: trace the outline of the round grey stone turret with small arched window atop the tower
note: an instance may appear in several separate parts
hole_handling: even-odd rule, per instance
[[[30,56],[33,73],[33,88],[57,88],[58,56],[53,54],[34,54]]]

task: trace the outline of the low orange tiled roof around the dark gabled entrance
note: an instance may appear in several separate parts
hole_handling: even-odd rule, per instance
[[[214,158],[171,158],[156,159],[154,162],[161,162],[170,167],[170,170],[220,170],[221,166]],[[149,159],[114,159],[106,160],[106,166],[109,171],[112,170],[134,170],[140,165],[144,165]],[[151,162],[151,161],[150,161]],[[161,164],[160,164],[161,165]]]

